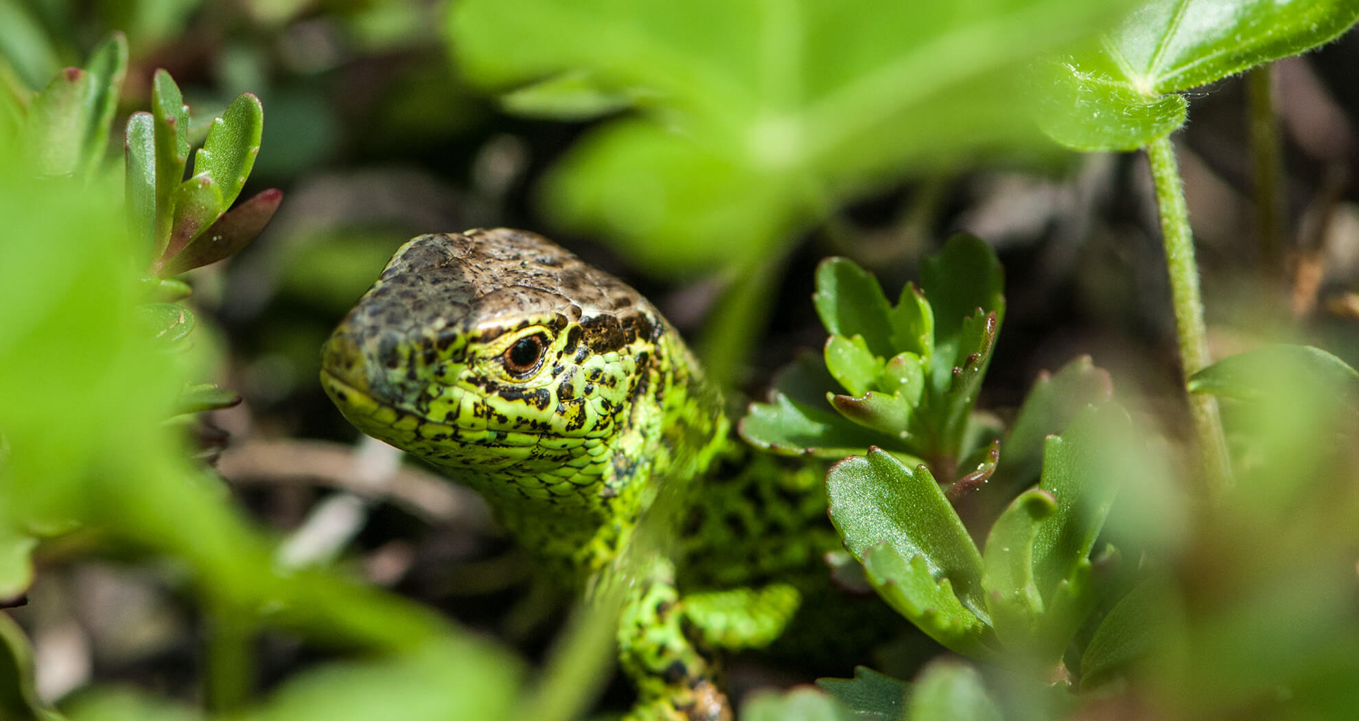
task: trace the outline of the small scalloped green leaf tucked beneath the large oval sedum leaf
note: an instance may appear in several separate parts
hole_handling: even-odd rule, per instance
[[[904,554],[890,541],[863,555],[868,582],[887,605],[950,650],[995,660],[995,639],[987,622],[964,605],[949,578],[930,570],[924,556]]]

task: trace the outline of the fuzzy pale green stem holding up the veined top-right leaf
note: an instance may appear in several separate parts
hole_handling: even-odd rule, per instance
[[[1166,248],[1166,269],[1170,273],[1170,297],[1176,313],[1176,333],[1180,363],[1185,378],[1208,366],[1208,329],[1203,320],[1203,298],[1199,292],[1199,265],[1193,260],[1193,234],[1189,230],[1189,208],[1185,205],[1184,182],[1169,137],[1147,146],[1151,180],[1157,189],[1161,211],[1161,237]],[[1186,390],[1188,393],[1188,390]],[[1218,495],[1231,486],[1231,464],[1227,442],[1218,415],[1218,400],[1205,393],[1188,393],[1199,456],[1208,491]]]

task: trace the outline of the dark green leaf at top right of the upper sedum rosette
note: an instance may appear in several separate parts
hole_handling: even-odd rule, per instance
[[[996,252],[984,241],[958,234],[920,264],[920,287],[930,301],[934,320],[935,373],[961,366],[966,354],[959,337],[977,309],[996,313],[996,326],[1004,320],[1004,273]],[[935,384],[947,385],[947,375]]]

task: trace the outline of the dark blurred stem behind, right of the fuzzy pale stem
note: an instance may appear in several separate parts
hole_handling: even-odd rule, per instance
[[[1279,146],[1279,121],[1271,98],[1271,71],[1260,65],[1246,73],[1246,98],[1250,106],[1250,155],[1254,165],[1256,212],[1260,223],[1260,267],[1267,278],[1277,279],[1283,271],[1283,151]]]

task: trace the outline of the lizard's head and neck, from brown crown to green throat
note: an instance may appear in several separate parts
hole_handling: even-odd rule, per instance
[[[658,482],[711,461],[727,422],[639,292],[518,230],[420,235],[322,351],[364,433],[480,491],[522,541],[606,562]]]

